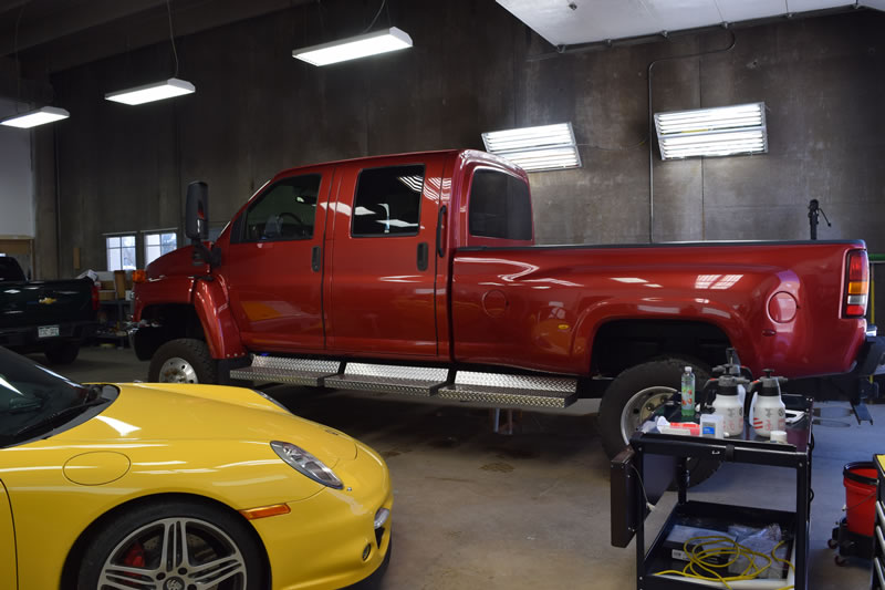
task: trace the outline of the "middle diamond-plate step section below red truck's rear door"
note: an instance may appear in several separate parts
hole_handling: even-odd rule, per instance
[[[344,374],[325,379],[325,385],[429,397],[446,384],[448,374],[448,369],[347,363]]]

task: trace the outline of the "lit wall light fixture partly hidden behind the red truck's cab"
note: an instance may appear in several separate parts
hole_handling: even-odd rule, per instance
[[[525,172],[581,167],[571,123],[492,131],[482,134],[486,151]]]

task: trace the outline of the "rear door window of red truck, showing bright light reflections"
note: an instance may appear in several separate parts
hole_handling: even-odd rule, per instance
[[[424,165],[368,168],[360,173],[351,236],[416,236]]]

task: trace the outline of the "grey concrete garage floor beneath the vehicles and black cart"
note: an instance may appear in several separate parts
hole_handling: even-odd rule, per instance
[[[61,373],[80,381],[132,381],[145,379],[147,363],[128,350],[85,349]],[[564,415],[524,413],[517,434],[502,436],[490,432],[482,410],[354,392],[267,391],[296,414],[385,456],[395,488],[395,552],[384,590],[635,588],[633,546],[610,545],[608,460],[592,405]],[[858,426],[846,407],[823,404],[814,431],[814,590],[870,583],[868,562],[836,567],[826,540],[842,516],[842,466],[885,453],[885,405],[871,407],[875,426]],[[792,472],[732,464],[689,497],[792,509],[793,485]],[[674,496],[649,516],[650,527],[663,520]]]

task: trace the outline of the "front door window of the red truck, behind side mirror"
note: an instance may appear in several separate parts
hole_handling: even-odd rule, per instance
[[[246,211],[246,227],[237,241],[312,238],[320,179],[319,174],[306,174],[269,186]]]

